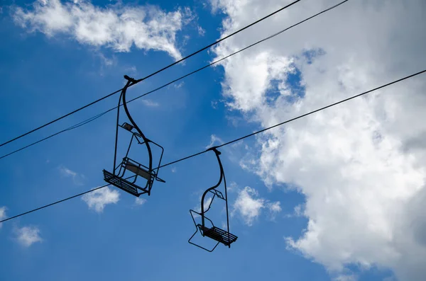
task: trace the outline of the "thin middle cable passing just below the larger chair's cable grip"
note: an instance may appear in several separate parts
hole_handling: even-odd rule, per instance
[[[305,21],[309,21],[309,20],[310,20],[310,19],[312,19],[312,18],[315,18],[315,17],[317,17],[317,16],[320,16],[322,13],[326,13],[327,11],[331,11],[332,9],[337,8],[338,6],[340,6],[340,5],[344,4],[344,3],[346,3],[347,1],[349,1],[349,0],[344,0],[344,1],[340,2],[339,4],[336,4],[336,5],[334,5],[334,6],[331,6],[331,7],[327,8],[327,9],[325,9],[325,10],[321,11],[320,13],[316,13],[315,15],[310,16],[309,18],[305,18],[305,20],[303,20],[303,21],[300,21],[300,22],[298,22],[298,23],[295,23],[294,25],[290,25],[288,28],[285,28],[285,29],[283,29],[283,30],[280,30],[280,31],[278,31],[277,33],[274,33],[273,35],[269,35],[268,37],[263,38],[262,40],[259,40],[259,41],[255,42],[255,43],[253,43],[253,44],[251,44],[251,45],[249,45],[249,46],[247,46],[247,47],[244,47],[244,48],[243,48],[243,49],[241,49],[241,50],[238,50],[238,51],[236,51],[236,52],[233,52],[233,53],[231,53],[231,54],[227,55],[226,57],[222,57],[221,59],[217,59],[216,61],[214,61],[214,62],[212,62],[212,63],[210,63],[210,64],[207,64],[207,65],[205,65],[204,67],[201,67],[201,68],[199,68],[199,69],[196,69],[195,71],[192,71],[192,72],[190,72],[190,73],[188,73],[188,74],[185,74],[185,75],[183,75],[183,76],[180,76],[178,79],[175,79],[175,80],[173,80],[173,81],[170,81],[170,82],[168,82],[168,83],[164,84],[163,86],[159,86],[158,88],[154,88],[153,90],[148,91],[147,93],[143,93],[141,96],[137,96],[136,98],[131,99],[131,100],[130,100],[130,101],[128,101],[127,103],[131,103],[132,101],[136,101],[138,98],[142,98],[142,97],[144,97],[144,96],[149,95],[150,93],[154,93],[155,91],[159,91],[160,89],[165,88],[165,87],[167,87],[167,86],[169,86],[169,85],[171,85],[171,84],[174,84],[174,83],[175,83],[175,82],[177,82],[177,81],[180,81],[180,80],[182,80],[182,79],[185,79],[187,76],[191,76],[192,74],[195,74],[195,73],[197,73],[197,72],[199,72],[199,71],[202,71],[203,69],[206,69],[207,67],[212,67],[214,64],[218,64],[219,62],[222,62],[224,59],[228,59],[229,57],[232,57],[232,56],[234,56],[234,55],[236,55],[236,54],[238,54],[238,53],[240,53],[240,52],[243,52],[244,50],[247,50],[247,49],[249,49],[249,48],[251,48],[251,47],[253,47],[253,46],[256,46],[256,45],[260,44],[261,42],[265,42],[266,40],[270,40],[271,38],[274,38],[275,36],[280,35],[281,33],[285,32],[285,31],[287,31],[287,30],[289,30],[289,29],[291,29],[291,28],[294,28],[294,27],[295,27],[295,26],[297,26],[297,25],[300,25],[300,24],[302,24],[302,23],[305,23]],[[117,107],[118,107],[118,106],[116,106],[116,107],[114,107],[114,108],[110,108],[109,110],[104,111],[104,113],[101,113],[101,114],[100,114],[100,116],[99,116],[99,115],[97,115],[97,116],[98,116],[98,117],[101,117],[102,115],[104,115],[104,114],[106,114],[106,113],[109,113],[109,112],[110,112],[110,111],[112,111],[112,110],[115,110]],[[89,122],[92,122],[93,120],[96,120],[98,117],[94,116],[94,117],[91,117],[91,118],[89,118],[88,120],[83,121],[83,122],[85,122],[85,124],[87,124],[87,123],[89,123]],[[79,127],[80,127],[80,126],[79,126]],[[72,129],[74,129],[74,128],[72,128]],[[22,147],[21,149],[16,149],[15,151],[12,151],[12,152],[11,152],[11,153],[9,153],[9,154],[5,154],[5,155],[1,156],[1,157],[0,157],[0,159],[3,159],[4,157],[9,156],[9,155],[15,154],[16,152],[21,151],[21,150],[23,150],[23,149],[26,149],[26,148],[28,148],[28,147],[32,147],[34,144],[38,144],[39,142],[43,142],[43,141],[45,141],[46,139],[50,139],[51,137],[55,137],[56,135],[61,134],[62,132],[67,132],[67,131],[69,131],[69,130],[62,130],[62,131],[60,131],[60,132],[57,132],[57,133],[55,133],[55,134],[50,135],[49,137],[45,137],[44,139],[40,139],[40,140],[39,140],[39,141],[37,141],[37,142],[33,142],[32,144],[28,144],[26,147]]]

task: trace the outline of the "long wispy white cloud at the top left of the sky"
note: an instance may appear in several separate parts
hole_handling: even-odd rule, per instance
[[[176,33],[192,16],[189,9],[161,11],[155,6],[94,6],[89,1],[35,1],[31,10],[16,7],[14,20],[23,28],[47,36],[69,35],[81,44],[129,52],[132,45],[160,50],[180,59]]]

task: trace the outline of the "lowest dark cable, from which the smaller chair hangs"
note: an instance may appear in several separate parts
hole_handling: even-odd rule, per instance
[[[340,103],[345,103],[346,101],[350,101],[350,100],[352,100],[352,99],[354,99],[354,98],[359,98],[360,96],[364,96],[364,95],[366,95],[367,93],[371,93],[371,92],[373,92],[373,91],[377,91],[377,90],[379,90],[379,89],[381,89],[381,88],[385,88],[385,87],[387,87],[387,86],[391,86],[391,85],[396,84],[396,83],[398,83],[398,82],[400,82],[400,81],[404,81],[404,80],[406,80],[406,79],[413,78],[414,76],[417,76],[417,75],[423,74],[423,73],[425,73],[425,72],[426,72],[426,69],[425,69],[425,70],[422,70],[422,71],[419,71],[419,72],[417,72],[417,73],[415,73],[415,74],[411,74],[411,75],[409,75],[409,76],[405,76],[405,77],[403,77],[403,78],[401,78],[401,79],[398,79],[398,80],[392,81],[392,82],[390,82],[390,83],[388,83],[388,84],[384,84],[384,85],[382,85],[382,86],[378,86],[378,87],[373,88],[373,89],[371,89],[371,90],[365,91],[364,93],[359,93],[358,95],[351,96],[350,98],[345,98],[344,100],[342,100],[342,101],[338,101],[337,103],[332,103],[332,104],[327,105],[327,106],[324,106],[324,107],[322,107],[322,108],[318,108],[317,110],[310,111],[309,113],[305,113],[305,114],[303,114],[303,115],[299,115],[299,116],[297,116],[297,117],[295,117],[295,118],[292,118],[292,119],[290,119],[290,120],[286,120],[286,121],[284,121],[284,122],[280,122],[280,123],[278,123],[278,124],[276,124],[276,125],[273,125],[273,126],[271,126],[271,127],[267,127],[267,128],[265,128],[265,129],[263,129],[263,130],[259,130],[259,131],[257,131],[257,132],[253,132],[253,133],[251,133],[251,134],[246,134],[244,137],[239,137],[238,139],[234,139],[234,140],[231,140],[231,141],[229,141],[229,142],[225,142],[224,144],[221,144],[221,145],[217,146],[217,148],[219,148],[219,147],[224,147],[224,146],[229,145],[229,144],[232,144],[232,143],[234,143],[234,142],[239,142],[241,139],[246,139],[247,137],[252,137],[252,136],[253,136],[253,135],[255,135],[255,134],[260,134],[261,132],[265,132],[265,131],[267,131],[267,130],[271,130],[271,129],[275,128],[275,127],[278,127],[278,126],[284,125],[284,124],[286,124],[286,123],[288,123],[288,122],[292,122],[292,121],[297,120],[297,119],[300,119],[300,118],[302,118],[302,117],[306,117],[307,115],[311,115],[311,114],[317,113],[318,111],[321,111],[321,110],[324,110],[324,109],[327,109],[327,108],[331,108],[331,107],[332,107],[332,106],[334,106],[334,105],[339,105]],[[181,158],[181,159],[178,159],[178,160],[176,160],[176,161],[169,162],[168,164],[164,164],[163,166],[160,166],[159,168],[164,168],[164,167],[166,167],[166,166],[170,166],[170,165],[172,165],[172,164],[176,164],[176,163],[178,163],[178,162],[181,162],[181,161],[184,161],[184,160],[190,159],[190,158],[195,157],[195,156],[198,156],[198,155],[200,155],[200,154],[204,154],[204,153],[206,153],[207,151],[209,151],[209,149],[204,150],[204,151],[200,151],[200,152],[198,152],[198,153],[196,153],[196,154],[192,154],[192,155],[190,155],[190,156],[186,156],[186,157]],[[101,188],[105,188],[105,187],[107,187],[107,186],[108,186],[108,185],[103,185],[103,186],[101,186],[101,187],[99,187],[99,188],[95,188],[95,189],[92,189],[92,190],[88,190],[88,191],[86,191],[85,193],[80,193],[80,194],[77,194],[77,195],[74,195],[74,196],[71,196],[71,197],[67,197],[67,198],[65,198],[65,199],[62,199],[62,200],[57,201],[57,202],[53,202],[53,203],[48,204],[48,205],[45,205],[45,206],[43,206],[43,207],[38,207],[37,209],[31,210],[31,211],[28,211],[28,212],[24,212],[24,213],[22,213],[22,214],[17,214],[16,216],[9,217],[8,219],[3,219],[3,220],[1,220],[1,221],[0,221],[0,223],[1,223],[1,222],[6,222],[6,221],[8,221],[8,220],[10,220],[10,219],[14,219],[14,218],[16,218],[16,217],[21,217],[21,216],[23,216],[24,214],[29,214],[29,213],[31,213],[31,212],[35,212],[35,211],[40,210],[40,209],[43,209],[43,208],[45,208],[45,207],[49,207],[49,206],[52,206],[52,205],[58,204],[58,203],[60,203],[60,202],[64,202],[64,201],[66,201],[66,200],[70,200],[70,199],[72,199],[72,198],[75,198],[75,197],[78,197],[78,196],[81,196],[81,195],[84,195],[84,194],[87,194],[87,193],[91,193],[91,192],[92,192],[92,191],[94,191],[94,190],[98,190],[98,189],[101,189]]]

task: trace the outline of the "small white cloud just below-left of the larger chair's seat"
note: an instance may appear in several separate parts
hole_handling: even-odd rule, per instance
[[[87,203],[89,209],[101,213],[106,205],[119,202],[120,193],[117,190],[111,190],[106,187],[83,195],[82,200]]]

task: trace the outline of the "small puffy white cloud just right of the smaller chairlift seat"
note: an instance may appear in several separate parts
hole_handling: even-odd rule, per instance
[[[281,212],[280,202],[268,202],[259,197],[256,189],[246,186],[239,191],[231,214],[239,214],[244,223],[251,226],[261,215],[263,208],[268,208],[273,214]]]

